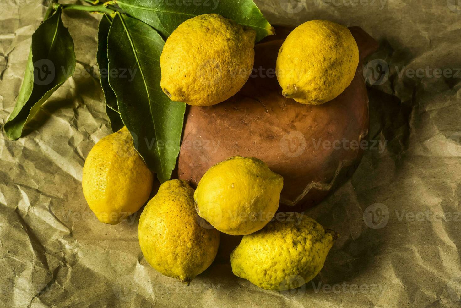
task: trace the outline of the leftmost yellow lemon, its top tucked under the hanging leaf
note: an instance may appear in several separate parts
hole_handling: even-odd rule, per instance
[[[83,195],[99,221],[116,225],[148,200],[153,180],[124,126],[89,152],[83,166]]]

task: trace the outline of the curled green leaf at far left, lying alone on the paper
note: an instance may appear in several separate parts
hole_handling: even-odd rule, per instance
[[[74,42],[62,23],[61,9],[58,8],[32,35],[16,106],[4,125],[6,136],[12,140],[21,137],[24,126],[74,71]]]

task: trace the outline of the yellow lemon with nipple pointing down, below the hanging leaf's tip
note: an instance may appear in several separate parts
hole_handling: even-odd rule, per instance
[[[142,211],[138,227],[144,258],[185,284],[211,265],[219,247],[219,231],[199,224],[193,195],[185,181],[163,183]]]

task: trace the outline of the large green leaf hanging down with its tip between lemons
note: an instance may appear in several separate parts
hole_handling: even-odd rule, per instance
[[[107,37],[109,75],[118,111],[135,147],[160,182],[171,177],[179,153],[185,104],[160,89],[160,54],[165,42],[148,24],[117,14]],[[130,81],[131,80],[131,81]]]

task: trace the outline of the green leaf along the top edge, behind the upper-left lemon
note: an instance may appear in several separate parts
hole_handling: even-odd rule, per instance
[[[274,34],[253,0],[117,0],[130,16],[150,24],[167,38],[179,24],[197,15],[216,13],[256,30],[256,41]]]

